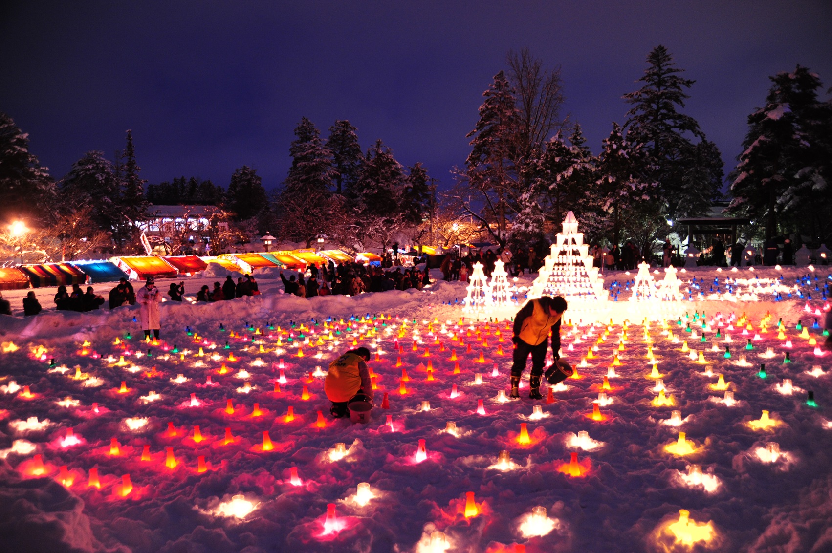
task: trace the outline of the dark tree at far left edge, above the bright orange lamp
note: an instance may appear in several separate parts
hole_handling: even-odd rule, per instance
[[[0,111],[0,218],[39,218],[53,209],[57,186],[37,157],[29,152],[29,136]]]

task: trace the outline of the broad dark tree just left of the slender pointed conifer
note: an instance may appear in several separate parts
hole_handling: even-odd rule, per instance
[[[97,228],[115,235],[121,225],[120,183],[102,151],[88,151],[63,178],[61,193],[67,210],[92,208]]]

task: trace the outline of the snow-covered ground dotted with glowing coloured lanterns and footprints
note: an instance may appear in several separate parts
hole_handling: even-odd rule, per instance
[[[262,274],[261,296],[162,304],[157,344],[136,307],[0,317],[0,550],[830,551],[832,353],[813,325],[828,268],[680,272],[688,299],[661,307],[628,301],[634,275],[567,310],[579,378],[551,402],[527,397],[527,373],[500,400],[518,308],[472,319],[459,283],[300,299]],[[4,296],[20,309],[25,292]],[[329,417],[310,376],[353,344],[379,352],[364,425]]]

